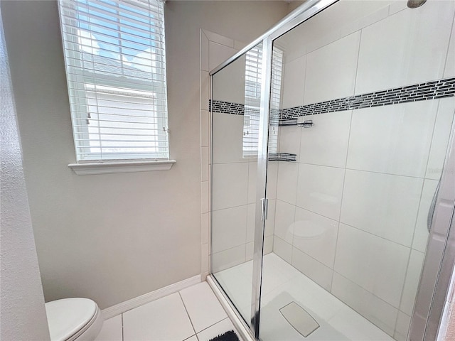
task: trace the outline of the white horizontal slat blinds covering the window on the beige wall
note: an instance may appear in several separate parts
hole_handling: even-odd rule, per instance
[[[164,3],[59,9],[77,161],[168,159]]]

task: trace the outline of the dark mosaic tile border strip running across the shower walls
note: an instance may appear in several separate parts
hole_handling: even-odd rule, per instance
[[[395,87],[389,90],[358,94],[356,96],[331,99],[330,101],[314,104],[301,105],[288,109],[273,110],[272,117],[279,113],[280,119],[295,119],[297,117],[324,114],[327,112],[342,112],[344,110],[380,107],[391,104],[425,101],[455,96],[455,77],[433,82],[424,82],[406,87]],[[209,108],[212,112],[225,114],[244,115],[245,105],[232,102],[209,100]],[[247,112],[256,112],[255,109],[247,108]],[[259,109],[257,109],[259,112]]]

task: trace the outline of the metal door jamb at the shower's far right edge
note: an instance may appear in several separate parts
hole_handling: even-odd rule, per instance
[[[411,317],[408,336],[410,341],[437,340],[451,286],[455,264],[455,119],[451,126],[437,193],[422,275]],[[432,212],[429,212],[429,215],[431,214]]]

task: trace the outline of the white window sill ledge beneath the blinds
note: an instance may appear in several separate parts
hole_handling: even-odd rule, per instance
[[[73,169],[77,175],[112,174],[112,173],[134,173],[149,171],[168,171],[175,160],[156,161],[119,161],[100,163],[70,163],[68,167]]]

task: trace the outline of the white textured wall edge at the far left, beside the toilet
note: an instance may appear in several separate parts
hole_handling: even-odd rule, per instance
[[[0,339],[49,340],[0,12]]]

